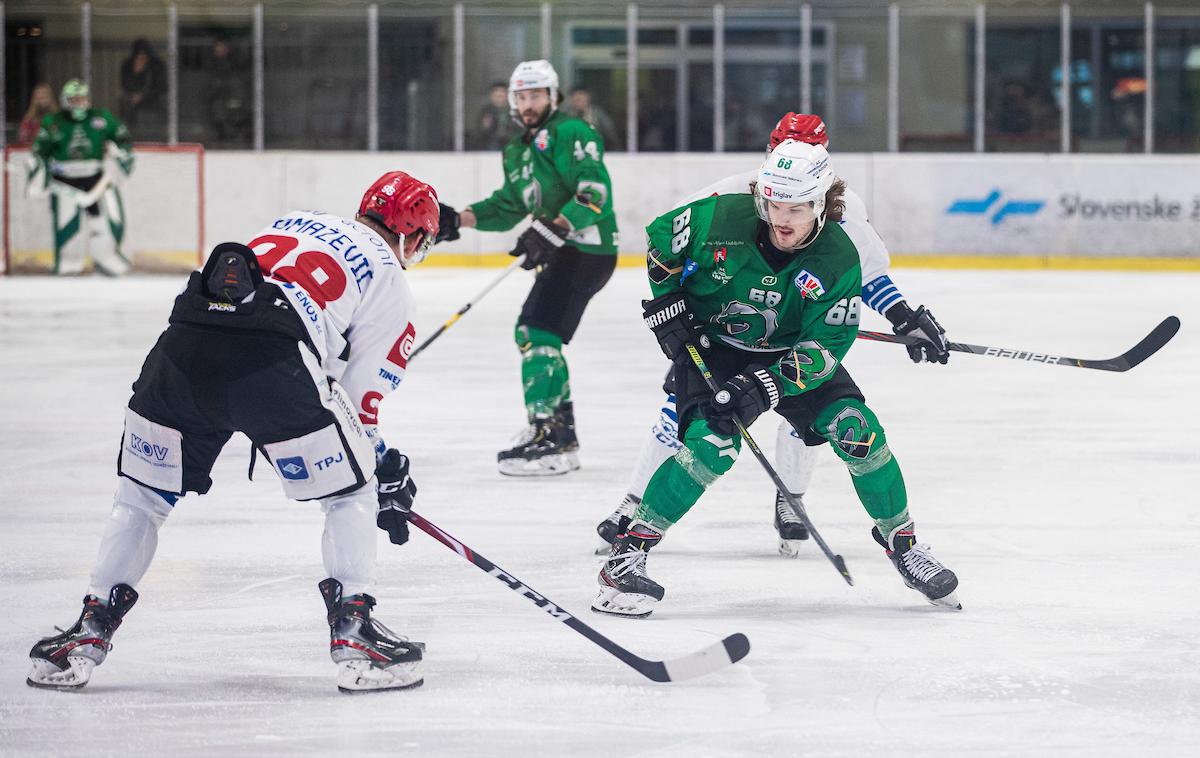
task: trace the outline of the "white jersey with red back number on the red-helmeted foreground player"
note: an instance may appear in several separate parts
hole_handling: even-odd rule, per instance
[[[372,229],[319,211],[290,211],[248,246],[300,314],[326,375],[346,389],[378,440],[379,402],[403,380],[416,339],[400,261]]]

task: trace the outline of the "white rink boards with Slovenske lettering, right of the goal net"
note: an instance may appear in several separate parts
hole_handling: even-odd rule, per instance
[[[761,160],[608,156],[622,251],[643,251],[642,228],[677,198]],[[455,206],[502,181],[491,152],[210,152],[205,166],[210,247],[246,239],[295,207],[353,215],[386,170],[428,181]],[[1200,257],[1200,157],[836,154],[834,166],[895,254]],[[518,231],[466,230],[439,249],[500,252]]]

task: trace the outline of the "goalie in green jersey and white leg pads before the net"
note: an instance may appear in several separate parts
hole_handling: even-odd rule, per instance
[[[62,110],[42,120],[29,175],[31,194],[50,195],[54,272],[80,273],[90,254],[97,271],[120,276],[130,261],[121,252],[125,206],[116,184],[133,170],[130,131],[91,107],[79,79],[62,86],[61,102]]]

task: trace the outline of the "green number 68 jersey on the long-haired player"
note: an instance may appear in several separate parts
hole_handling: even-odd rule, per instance
[[[683,288],[709,338],[762,353],[758,362],[784,380],[785,395],[820,386],[853,344],[863,275],[839,224],[824,224],[796,253],[780,253],[754,197],[722,194],[660,216],[646,234],[654,295]]]

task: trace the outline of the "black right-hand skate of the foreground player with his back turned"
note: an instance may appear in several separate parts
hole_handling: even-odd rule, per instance
[[[371,618],[374,597],[342,598],[342,583],[329,578],[317,585],[329,610],[329,655],[337,663],[342,692],[407,690],[425,682],[421,658],[425,643],[397,636]]]

